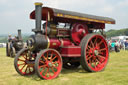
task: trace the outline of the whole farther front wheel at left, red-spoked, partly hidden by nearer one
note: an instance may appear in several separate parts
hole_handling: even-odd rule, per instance
[[[35,56],[32,55],[30,57],[29,52],[30,51],[27,48],[23,48],[15,57],[14,66],[20,75],[31,75],[35,73]]]

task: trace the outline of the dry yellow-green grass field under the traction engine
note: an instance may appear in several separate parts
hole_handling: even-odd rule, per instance
[[[63,69],[53,80],[41,80],[36,74],[20,76],[13,64],[14,58],[6,57],[5,48],[0,48],[0,85],[128,85],[128,51],[110,53],[103,72]]]

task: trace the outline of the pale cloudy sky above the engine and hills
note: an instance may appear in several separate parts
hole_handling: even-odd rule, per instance
[[[0,34],[32,33],[35,21],[29,14],[35,9],[34,3],[44,6],[110,17],[116,24],[107,24],[106,30],[128,28],[128,0],[0,0]]]

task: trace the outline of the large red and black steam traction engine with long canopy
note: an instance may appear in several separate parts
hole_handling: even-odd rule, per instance
[[[35,3],[30,14],[35,19],[36,28],[23,48],[15,57],[14,66],[21,75],[35,72],[42,79],[54,79],[62,67],[75,69],[80,65],[88,72],[105,69],[109,51],[104,38],[105,23],[115,24],[115,20],[49,7]],[[41,27],[41,21],[45,23]],[[60,23],[65,24],[63,27]],[[41,29],[42,28],[42,29]],[[101,30],[101,34],[94,30]]]

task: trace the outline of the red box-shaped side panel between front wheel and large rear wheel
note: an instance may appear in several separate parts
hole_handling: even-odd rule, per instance
[[[67,46],[61,48],[62,57],[80,57],[81,47],[80,46]]]

